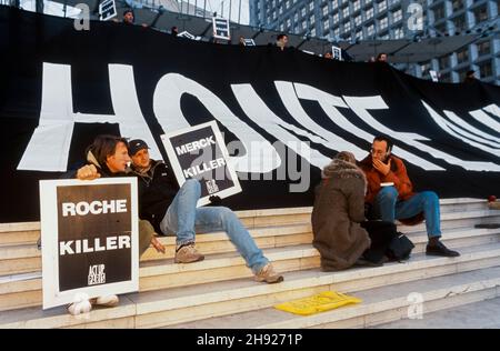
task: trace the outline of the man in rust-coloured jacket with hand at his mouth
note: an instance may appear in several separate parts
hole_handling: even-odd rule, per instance
[[[376,137],[371,154],[360,162],[368,181],[366,202],[372,204],[374,217],[389,222],[398,219],[408,224],[416,224],[424,218],[429,237],[426,253],[460,255],[439,240],[441,229],[438,195],[433,191],[414,193],[404,163],[392,156],[391,150],[392,141],[388,137]]]

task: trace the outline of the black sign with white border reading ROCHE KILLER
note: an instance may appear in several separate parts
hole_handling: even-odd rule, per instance
[[[40,181],[43,308],[138,290],[134,178]]]

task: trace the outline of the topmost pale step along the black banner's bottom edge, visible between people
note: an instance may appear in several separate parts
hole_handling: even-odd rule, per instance
[[[470,212],[487,209],[483,199],[458,198],[440,200],[441,213]],[[256,227],[309,223],[312,207],[236,211],[243,224]],[[0,247],[36,243],[40,237],[40,222],[0,223]]]

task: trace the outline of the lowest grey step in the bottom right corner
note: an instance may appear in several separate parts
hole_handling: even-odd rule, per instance
[[[376,329],[500,329],[500,298],[427,312],[422,319],[402,319]]]

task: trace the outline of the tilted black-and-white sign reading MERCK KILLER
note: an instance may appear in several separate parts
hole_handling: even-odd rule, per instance
[[[209,203],[211,195],[226,198],[241,191],[216,121],[173,131],[161,139],[179,185],[188,179],[200,181],[199,205]]]

